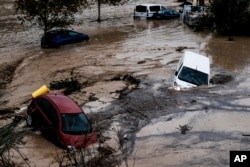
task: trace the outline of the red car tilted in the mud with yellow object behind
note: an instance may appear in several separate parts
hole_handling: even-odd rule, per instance
[[[27,126],[67,148],[87,147],[97,141],[83,110],[71,98],[55,93],[33,98],[27,110]]]

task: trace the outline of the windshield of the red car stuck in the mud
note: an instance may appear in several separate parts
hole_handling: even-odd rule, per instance
[[[83,113],[62,114],[62,130],[67,134],[85,134],[91,131],[87,117]]]

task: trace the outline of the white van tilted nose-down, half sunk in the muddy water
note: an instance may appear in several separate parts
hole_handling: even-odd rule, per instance
[[[181,88],[209,85],[209,78],[209,58],[186,50],[178,62],[173,86],[179,90]]]

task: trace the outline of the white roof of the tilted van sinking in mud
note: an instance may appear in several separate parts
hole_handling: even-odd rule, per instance
[[[210,60],[206,56],[186,50],[182,62],[183,66],[210,74]]]

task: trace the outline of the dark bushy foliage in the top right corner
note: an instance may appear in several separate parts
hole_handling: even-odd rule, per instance
[[[210,0],[216,30],[224,35],[250,35],[249,0]]]

